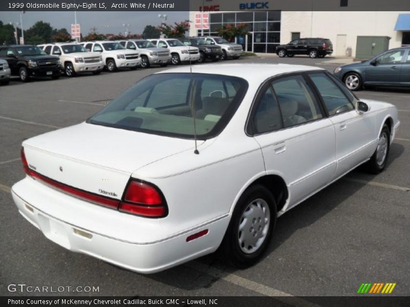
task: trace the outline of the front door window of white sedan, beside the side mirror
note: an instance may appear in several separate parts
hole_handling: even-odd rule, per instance
[[[342,90],[325,74],[309,74],[309,76],[316,85],[330,116],[355,108]]]

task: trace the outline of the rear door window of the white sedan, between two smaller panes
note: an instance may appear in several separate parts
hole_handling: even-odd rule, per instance
[[[272,86],[285,128],[323,117],[312,90],[302,76],[281,78]]]

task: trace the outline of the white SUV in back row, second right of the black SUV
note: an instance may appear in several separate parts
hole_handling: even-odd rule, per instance
[[[127,50],[116,41],[84,41],[81,42],[81,45],[86,50],[99,52],[109,72],[115,72],[119,68],[135,70],[141,64],[141,57],[138,51]]]

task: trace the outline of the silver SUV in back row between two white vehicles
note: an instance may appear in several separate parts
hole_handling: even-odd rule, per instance
[[[157,48],[151,41],[146,39],[118,40],[127,49],[139,51],[141,57],[141,67],[149,68],[157,64],[162,67],[167,66],[171,60],[171,52],[167,48]]]

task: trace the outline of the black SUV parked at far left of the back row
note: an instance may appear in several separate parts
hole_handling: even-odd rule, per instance
[[[37,46],[0,46],[0,58],[9,63],[11,75],[19,76],[23,82],[27,82],[29,77],[58,79],[61,74],[59,58],[47,55]]]

